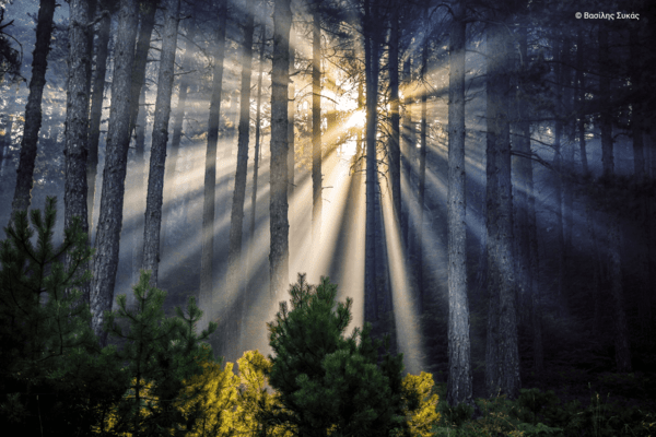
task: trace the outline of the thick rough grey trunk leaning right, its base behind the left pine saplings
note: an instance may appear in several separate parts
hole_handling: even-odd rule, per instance
[[[121,0],[118,16],[107,153],[103,173],[101,214],[95,240],[96,253],[91,291],[92,327],[102,345],[107,344],[104,312],[112,309],[114,302],[122,226],[126,170],[130,145],[130,81],[137,37],[137,0]]]

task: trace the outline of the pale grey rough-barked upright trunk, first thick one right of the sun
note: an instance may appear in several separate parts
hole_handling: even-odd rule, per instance
[[[465,1],[455,4],[448,74],[448,382],[450,405],[472,402],[467,299],[467,191],[465,173]]]

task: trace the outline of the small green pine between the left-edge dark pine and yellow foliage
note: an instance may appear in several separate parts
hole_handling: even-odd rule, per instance
[[[185,393],[184,381],[201,374],[202,363],[211,361],[212,351],[202,341],[216,324],[196,333],[202,311],[194,297],[189,297],[186,314],[176,308],[176,317],[165,317],[166,293],[150,285],[150,272],[141,272],[133,292],[133,308],[128,308],[121,295],[118,309],[107,317],[109,334],[124,342],[117,354],[131,381],[110,426],[114,432],[133,435],[174,434],[188,423],[177,405]]]

